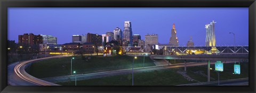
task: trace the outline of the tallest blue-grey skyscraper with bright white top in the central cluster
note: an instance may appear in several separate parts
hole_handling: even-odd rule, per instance
[[[124,21],[123,41],[128,46],[132,46],[132,23],[130,21]]]

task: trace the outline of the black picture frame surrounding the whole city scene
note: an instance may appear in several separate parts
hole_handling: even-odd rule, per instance
[[[1,92],[255,92],[255,0],[2,0]],[[249,86],[7,86],[8,7],[249,7]]]

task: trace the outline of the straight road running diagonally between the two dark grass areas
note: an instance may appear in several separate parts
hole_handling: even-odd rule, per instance
[[[214,64],[215,62],[211,62]],[[234,62],[226,62],[226,63],[234,63]],[[187,63],[187,66],[198,66],[198,65],[207,65],[207,63]],[[172,65],[163,65],[163,66],[149,66],[149,67],[140,67],[135,68],[134,73],[140,72],[148,72],[154,70],[164,70],[164,69],[171,69],[177,67],[184,67],[183,63],[180,64],[172,64]],[[101,78],[101,77],[108,77],[113,75],[121,75],[121,74],[129,74],[132,73],[132,69],[124,69],[124,70],[115,70],[115,71],[106,71],[106,72],[97,72],[97,73],[89,73],[89,74],[76,74],[77,80],[85,80],[85,79],[93,79],[93,78]],[[75,75],[65,75],[60,77],[51,77],[51,78],[42,78],[42,80],[49,81],[49,82],[65,82],[65,81],[74,81]]]

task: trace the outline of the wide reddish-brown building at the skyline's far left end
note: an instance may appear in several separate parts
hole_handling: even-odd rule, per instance
[[[42,36],[41,35],[34,35],[33,33],[24,33],[23,35],[19,35],[18,43],[25,45],[28,44],[30,46],[32,45],[39,45],[43,43]]]

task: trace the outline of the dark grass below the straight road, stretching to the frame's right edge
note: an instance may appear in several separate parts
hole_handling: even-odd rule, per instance
[[[227,79],[238,79],[238,78],[248,78],[249,77],[249,69],[248,63],[240,63],[241,64],[241,74],[235,75],[233,74],[233,65],[234,63],[224,63],[224,71],[220,72],[220,80]],[[214,65],[211,65],[211,81],[218,80],[218,74],[214,71]],[[183,67],[176,69],[168,69],[168,70],[159,70],[153,72],[143,72],[143,73],[135,73],[134,74],[134,85],[142,85],[142,86],[161,86],[161,85],[177,85],[177,84],[186,84],[186,83],[195,83],[196,81],[188,81],[181,74],[177,73],[177,71],[183,71]],[[193,66],[187,67],[187,75],[195,79],[199,82],[206,82],[207,77],[204,75],[195,73],[202,71],[204,75],[207,76],[207,65],[203,66]],[[75,85],[74,81],[69,82],[59,82],[60,85],[65,86],[73,86]],[[125,75],[116,75],[111,77],[97,78],[97,79],[89,79],[89,80],[81,80],[77,81],[78,86],[130,86],[132,85],[131,74]]]

